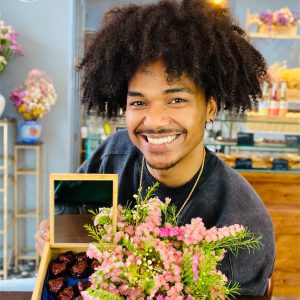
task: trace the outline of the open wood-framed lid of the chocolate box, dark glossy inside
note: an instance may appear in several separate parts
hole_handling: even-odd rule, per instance
[[[83,227],[92,224],[89,209],[113,207],[113,230],[117,228],[117,174],[50,174],[50,245],[82,246],[93,240]]]

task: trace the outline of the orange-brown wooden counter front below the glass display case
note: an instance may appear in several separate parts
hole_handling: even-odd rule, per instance
[[[265,203],[274,224],[274,296],[300,296],[300,174],[240,172]]]

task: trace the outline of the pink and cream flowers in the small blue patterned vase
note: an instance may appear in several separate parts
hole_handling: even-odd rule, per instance
[[[42,71],[31,70],[24,81],[24,88],[13,89],[10,99],[25,120],[35,120],[50,111],[57,95],[49,76]]]

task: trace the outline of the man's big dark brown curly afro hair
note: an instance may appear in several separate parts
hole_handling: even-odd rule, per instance
[[[128,82],[141,66],[162,60],[169,80],[185,73],[218,108],[257,104],[266,76],[262,55],[227,9],[200,0],[116,7],[83,58],[82,103],[108,116],[126,108]]]

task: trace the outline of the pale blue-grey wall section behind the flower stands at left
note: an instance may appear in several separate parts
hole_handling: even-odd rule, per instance
[[[9,92],[20,85],[31,69],[45,71],[53,78],[58,100],[51,112],[40,120],[43,126],[43,217],[48,216],[48,185],[50,173],[74,171],[72,121],[76,101],[73,98],[74,84],[74,5],[73,0],[0,0],[0,19],[13,26],[19,33],[18,41],[27,53],[26,57],[16,57],[1,76],[0,91],[6,98],[4,117],[22,121],[10,103]],[[14,139],[10,136],[10,145]],[[2,148],[2,147],[0,147]],[[28,164],[34,157],[26,157]],[[27,179],[25,198],[27,206],[33,206],[34,178]],[[26,181],[27,182],[27,181]],[[13,199],[9,198],[9,205]],[[26,240],[34,245],[34,224],[27,231]],[[0,255],[2,251],[0,251]]]

